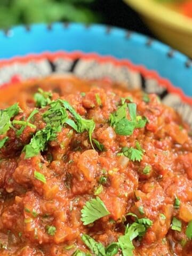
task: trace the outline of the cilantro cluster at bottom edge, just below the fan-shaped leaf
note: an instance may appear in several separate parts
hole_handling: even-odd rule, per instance
[[[125,235],[118,238],[118,242],[111,243],[107,247],[104,247],[101,243],[95,241],[89,235],[83,235],[82,241],[85,245],[91,250],[95,256],[113,256],[118,253],[118,250],[121,249],[123,256],[132,256],[133,255],[133,239],[136,237],[142,237],[145,235],[147,229],[153,225],[153,222],[148,218],[138,219],[137,215],[129,213],[135,218],[130,226],[126,226]]]

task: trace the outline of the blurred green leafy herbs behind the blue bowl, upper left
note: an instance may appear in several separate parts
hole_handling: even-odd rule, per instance
[[[90,8],[95,0],[1,0],[0,27],[20,23],[74,21],[98,22],[100,17]]]

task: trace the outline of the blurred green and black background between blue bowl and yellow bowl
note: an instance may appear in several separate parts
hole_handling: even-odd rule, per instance
[[[31,23],[104,23],[153,36],[123,0],[0,0],[0,28]]]

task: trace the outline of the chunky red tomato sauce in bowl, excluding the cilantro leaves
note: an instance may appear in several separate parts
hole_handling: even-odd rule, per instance
[[[39,87],[52,91],[52,100],[65,99],[83,118],[93,119],[92,137],[104,150],[92,148],[86,131],[78,133],[64,125],[46,150],[26,159],[22,149],[44,127],[44,109],[33,118],[36,129],[27,126],[20,137],[12,128],[7,131],[9,140],[0,153],[0,255],[61,256],[73,255],[77,249],[92,253],[82,234],[105,246],[117,242],[125,225],[134,221],[126,216],[130,212],[153,221],[141,239],[134,239],[133,255],[192,255],[192,243],[185,234],[192,220],[192,140],[181,117],[155,94],[144,100],[142,91],[126,91],[107,79],[73,77],[7,87],[0,93],[0,107],[19,102],[22,111],[14,119],[26,120],[36,109],[33,94]],[[132,135],[117,134],[109,123],[122,98],[136,103],[137,115],[148,120]],[[142,148],[140,162],[119,155],[123,147],[135,148],[136,141]],[[147,172],[143,171],[146,166]],[[36,179],[35,171],[46,182]],[[85,226],[81,210],[95,198],[101,184],[98,197],[110,214]],[[173,217],[181,222],[181,231],[172,230]],[[54,227],[54,232],[47,232],[47,227]],[[121,250],[117,255],[122,255]]]

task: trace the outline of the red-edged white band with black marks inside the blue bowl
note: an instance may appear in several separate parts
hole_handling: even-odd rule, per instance
[[[128,60],[102,57],[95,53],[43,53],[0,61],[0,93],[7,86],[17,86],[20,81],[50,75],[75,75],[85,79],[110,78],[129,89],[156,93],[163,103],[182,114],[192,127],[192,99],[167,79]]]

